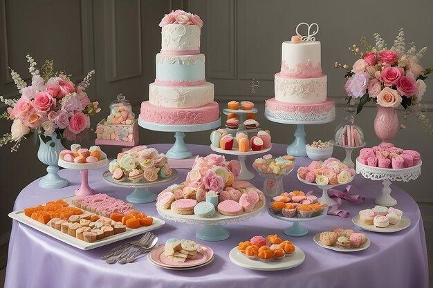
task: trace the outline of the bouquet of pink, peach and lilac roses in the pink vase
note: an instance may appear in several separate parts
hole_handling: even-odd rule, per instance
[[[412,42],[406,50],[403,29],[400,29],[391,48],[387,48],[378,33],[374,34],[374,38],[376,46],[370,46],[367,39],[361,37],[360,42],[364,44],[365,52],[361,52],[356,44],[349,48],[360,57],[351,68],[347,64],[335,62],[334,68],[347,70],[347,81],[344,85],[347,103],[352,104],[353,100],[358,102],[357,114],[371,100],[383,107],[396,108],[401,105],[405,109],[403,119],[413,113],[431,133],[432,126],[423,114],[425,108],[421,107],[420,102],[426,90],[424,80],[432,72],[432,68],[423,68],[418,63],[427,47],[417,52]],[[404,124],[400,125],[402,129],[405,127]]]

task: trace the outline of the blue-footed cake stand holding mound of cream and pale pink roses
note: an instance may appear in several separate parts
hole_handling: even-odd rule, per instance
[[[138,182],[132,182],[127,179],[125,181],[116,181],[113,179],[110,171],[105,171],[102,174],[102,179],[108,184],[118,186],[118,187],[131,187],[134,188],[132,193],[127,195],[127,201],[131,203],[150,203],[156,200],[157,195],[149,190],[149,187],[163,186],[169,184],[177,179],[177,171],[173,169],[172,175],[165,178],[159,178],[154,182],[145,182],[141,179]]]

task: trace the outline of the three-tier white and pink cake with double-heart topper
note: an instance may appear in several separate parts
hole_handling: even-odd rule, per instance
[[[308,26],[308,36],[297,36],[282,44],[281,71],[275,74],[275,98],[266,100],[265,117],[273,122],[308,124],[335,119],[335,102],[326,99],[326,75],[320,66],[320,41],[313,35],[319,27]],[[310,30],[316,28],[315,32]],[[310,34],[311,33],[311,34]],[[304,123],[301,123],[304,122]]]

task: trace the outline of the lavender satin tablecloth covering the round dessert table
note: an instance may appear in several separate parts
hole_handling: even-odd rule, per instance
[[[161,152],[169,148],[168,144],[153,146]],[[190,148],[200,155],[212,152],[208,146],[190,145]],[[285,145],[274,144],[270,153],[284,155],[285,149]],[[234,159],[230,156],[228,158]],[[250,165],[254,159],[255,156],[248,157],[247,164]],[[307,158],[297,158],[297,166],[306,165],[308,162]],[[131,189],[105,184],[101,177],[103,171],[104,169],[89,171],[91,187],[125,200]],[[284,178],[285,190],[311,190],[311,186],[297,180],[295,171]],[[187,170],[179,169],[178,172],[176,182],[182,182]],[[36,180],[21,191],[14,210],[73,195],[74,189],[80,184],[79,171],[64,169],[60,174],[69,180],[69,186],[57,190],[41,189]],[[257,176],[251,182],[261,188],[264,179]],[[427,287],[427,249],[421,213],[412,197],[396,186],[393,186],[392,192],[398,201],[396,207],[402,209],[411,220],[410,227],[396,233],[362,231],[371,240],[371,245],[368,249],[356,253],[331,251],[313,242],[316,233],[331,227],[361,230],[351,222],[351,218],[360,209],[374,207],[374,199],[380,195],[382,185],[380,182],[365,180],[360,175],[356,175],[351,184],[350,193],[363,195],[365,202],[351,204],[343,200],[341,208],[351,213],[348,218],[327,215],[322,220],[304,223],[303,226],[309,230],[308,234],[301,238],[290,238],[305,252],[305,261],[293,269],[253,271],[234,265],[228,258],[230,249],[252,236],[278,233],[282,238],[288,238],[282,230],[290,223],[271,218],[267,213],[262,213],[247,222],[228,224],[228,240],[205,242],[214,249],[213,262],[205,267],[187,271],[161,269],[151,265],[145,256],[133,264],[107,265],[99,256],[118,243],[82,251],[14,221],[5,287]],[[157,193],[162,188],[164,187],[151,190]],[[344,189],[344,186],[340,188]],[[321,191],[315,189],[316,195],[320,193]],[[158,215],[155,203],[135,206],[148,215]],[[160,242],[172,237],[199,240],[195,238],[197,229],[194,225],[167,221],[154,233]]]

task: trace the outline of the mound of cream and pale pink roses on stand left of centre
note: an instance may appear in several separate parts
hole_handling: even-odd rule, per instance
[[[109,171],[113,178],[117,175],[115,179],[118,181],[126,180],[128,177],[133,182],[142,178],[146,182],[154,182],[158,177],[165,178],[173,173],[165,154],[144,145],[119,153],[117,159],[109,163]]]

